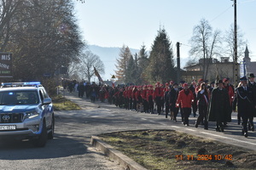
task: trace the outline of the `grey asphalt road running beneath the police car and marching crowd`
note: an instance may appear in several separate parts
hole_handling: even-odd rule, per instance
[[[79,104],[83,110],[55,111],[55,139],[49,140],[44,148],[35,148],[31,141],[2,140],[0,169],[124,169],[91,147],[90,136],[136,129],[174,129],[256,150],[256,133],[249,132],[247,139],[241,136],[236,113],[232,114],[233,120],[225,132],[218,133],[212,122],[209,130],[202,126],[195,128],[195,117],[189,117],[190,126],[184,127],[179,116],[177,122],[172,122],[164,115],[126,111],[100,102],[93,104],[75,96],[66,94],[67,99]]]

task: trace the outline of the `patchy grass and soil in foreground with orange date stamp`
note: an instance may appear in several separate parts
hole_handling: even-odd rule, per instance
[[[99,137],[152,170],[256,167],[254,151],[172,130],[106,133]]]

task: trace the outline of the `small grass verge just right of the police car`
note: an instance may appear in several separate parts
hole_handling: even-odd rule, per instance
[[[64,98],[62,95],[51,97],[55,111],[78,111],[81,110],[79,105]]]

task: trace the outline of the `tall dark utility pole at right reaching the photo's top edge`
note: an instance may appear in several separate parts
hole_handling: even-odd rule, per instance
[[[237,20],[236,20],[236,0],[234,1],[234,72],[235,72],[235,85],[238,85],[238,64],[237,64]]]

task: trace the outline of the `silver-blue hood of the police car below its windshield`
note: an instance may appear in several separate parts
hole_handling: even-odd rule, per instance
[[[0,105],[0,112],[34,111],[38,105]]]

